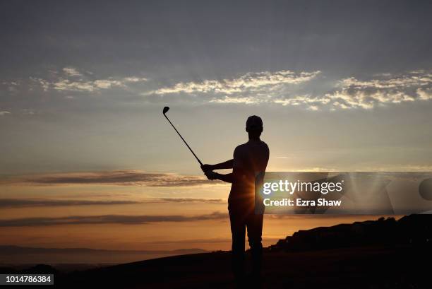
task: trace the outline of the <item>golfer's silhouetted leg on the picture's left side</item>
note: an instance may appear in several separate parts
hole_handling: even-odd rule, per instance
[[[234,278],[240,280],[244,276],[244,240],[246,223],[243,212],[230,209],[229,221],[232,234],[232,273]]]

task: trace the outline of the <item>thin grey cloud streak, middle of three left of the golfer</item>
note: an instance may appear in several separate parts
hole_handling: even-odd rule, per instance
[[[208,203],[224,204],[224,199],[205,198],[155,198],[142,201],[106,201],[106,200],[59,200],[59,199],[0,199],[0,208],[29,208],[48,206],[115,206],[154,203]]]

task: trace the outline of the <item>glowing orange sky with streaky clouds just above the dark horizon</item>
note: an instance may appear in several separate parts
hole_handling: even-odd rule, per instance
[[[15,203],[1,208],[0,244],[128,250],[227,250],[231,246],[228,194],[229,185],[218,183],[193,187],[2,184],[0,199],[15,200]],[[28,200],[36,203],[25,203]],[[53,200],[54,203],[49,203]],[[79,204],[79,201],[93,201],[95,204]],[[122,204],[122,201],[131,204]],[[275,244],[297,230],[376,218],[378,216],[266,215],[263,244]]]

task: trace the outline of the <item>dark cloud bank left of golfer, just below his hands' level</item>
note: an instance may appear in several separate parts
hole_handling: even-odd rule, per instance
[[[117,184],[148,187],[190,187],[217,184],[200,176],[167,173],[150,173],[139,170],[114,170],[103,172],[67,172],[50,175],[20,176],[0,180],[0,184]]]

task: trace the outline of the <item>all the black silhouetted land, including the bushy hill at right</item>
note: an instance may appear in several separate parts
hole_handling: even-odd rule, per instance
[[[262,288],[431,288],[431,220],[407,216],[296,232],[265,250]],[[170,256],[56,273],[54,282],[61,288],[235,288],[229,264],[229,252]]]

